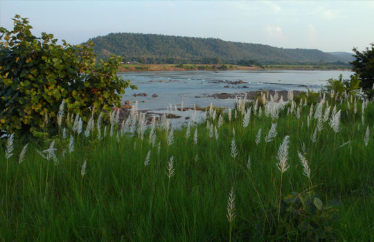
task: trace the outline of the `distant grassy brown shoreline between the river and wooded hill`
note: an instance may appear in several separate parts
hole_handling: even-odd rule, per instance
[[[265,65],[264,67],[246,67],[235,64],[122,64],[118,73],[143,71],[351,71],[351,69],[313,65]]]

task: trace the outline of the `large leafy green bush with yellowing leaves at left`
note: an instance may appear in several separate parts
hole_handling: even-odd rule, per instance
[[[121,58],[97,63],[91,42],[56,44],[52,34],[35,37],[26,18],[15,15],[13,20],[12,31],[0,28],[0,130],[42,135],[45,121],[57,126],[62,101],[84,121],[120,105],[130,86],[130,80],[116,76]]]

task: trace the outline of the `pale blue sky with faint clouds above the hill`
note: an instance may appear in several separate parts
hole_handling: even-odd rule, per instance
[[[10,1],[0,26],[28,17],[33,34],[80,44],[109,33],[214,37],[321,51],[374,42],[374,1]]]

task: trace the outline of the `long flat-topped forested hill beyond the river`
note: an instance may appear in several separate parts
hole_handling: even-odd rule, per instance
[[[125,61],[145,63],[238,63],[306,64],[345,62],[317,49],[283,49],[265,44],[229,42],[213,38],[139,33],[110,33],[90,39],[99,58],[111,53]]]

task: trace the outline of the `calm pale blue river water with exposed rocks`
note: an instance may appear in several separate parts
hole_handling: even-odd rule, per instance
[[[161,71],[134,72],[119,74],[138,87],[126,89],[123,101],[139,101],[139,110],[166,109],[169,103],[174,105],[184,102],[184,107],[193,104],[206,107],[213,103],[217,106],[232,107],[232,99],[197,98],[202,94],[240,93],[265,90],[319,90],[329,78],[349,78],[352,71]],[[230,85],[227,81],[242,80],[246,83]],[[229,88],[224,86],[229,85]],[[244,87],[247,86],[247,87]],[[148,96],[133,96],[145,93]],[[159,95],[156,98],[152,94]],[[144,101],[144,102],[143,102]]]

